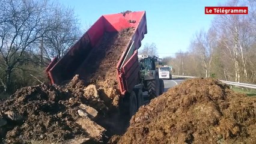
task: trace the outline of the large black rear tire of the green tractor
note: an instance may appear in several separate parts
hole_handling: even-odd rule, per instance
[[[154,80],[148,80],[147,88],[151,97],[157,97],[159,95],[159,78],[156,77]]]

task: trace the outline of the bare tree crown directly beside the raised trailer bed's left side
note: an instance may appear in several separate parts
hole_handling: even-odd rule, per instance
[[[54,25],[52,31],[46,32],[42,41],[47,58],[61,58],[81,37],[81,31],[72,9],[58,5],[53,8],[51,20]]]

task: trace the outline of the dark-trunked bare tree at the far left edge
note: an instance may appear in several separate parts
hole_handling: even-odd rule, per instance
[[[0,67],[5,69],[8,91],[11,73],[26,61],[24,54],[34,49],[48,28],[46,1],[2,0],[0,11],[0,54],[4,59]]]

